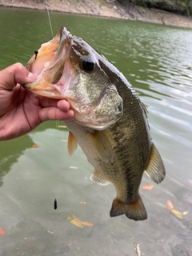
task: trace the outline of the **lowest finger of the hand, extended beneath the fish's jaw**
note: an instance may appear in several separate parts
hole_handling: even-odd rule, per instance
[[[45,122],[48,120],[66,120],[74,117],[74,110],[69,110],[68,112],[63,112],[59,110],[57,107],[51,106],[47,108],[42,108],[39,110],[39,118],[41,122]]]

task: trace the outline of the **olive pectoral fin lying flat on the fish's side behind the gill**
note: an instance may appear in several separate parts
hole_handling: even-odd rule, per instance
[[[106,135],[102,130],[95,130],[90,133],[95,149],[103,162],[114,162],[114,152]]]

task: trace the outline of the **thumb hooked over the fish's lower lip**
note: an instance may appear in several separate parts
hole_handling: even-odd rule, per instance
[[[15,63],[0,71],[0,89],[12,90],[17,83],[34,82],[37,76],[26,70],[21,63]]]

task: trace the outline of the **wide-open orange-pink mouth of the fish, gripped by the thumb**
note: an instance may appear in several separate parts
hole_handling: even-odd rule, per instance
[[[27,90],[33,91],[49,98],[63,99],[66,82],[74,71],[70,65],[71,34],[65,27],[61,27],[58,34],[50,41],[43,43],[26,68],[38,79],[32,83],[22,85]],[[66,73],[65,70],[70,70]],[[64,75],[63,74],[68,74]]]

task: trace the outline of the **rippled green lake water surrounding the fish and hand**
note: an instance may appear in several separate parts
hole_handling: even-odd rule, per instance
[[[150,129],[166,166],[156,186],[144,174],[144,222],[110,218],[114,186],[90,182],[92,166],[78,148],[69,158],[62,122],[0,142],[1,256],[134,256],[192,254],[192,30],[50,12],[54,34],[66,26],[104,54],[148,107]],[[0,9],[0,70],[26,64],[52,38],[46,12]],[[39,146],[33,148],[33,144]],[[153,190],[142,186],[154,184]],[[54,198],[58,209],[54,210]],[[184,214],[177,218],[166,206]],[[81,204],[80,202],[86,202]],[[79,228],[75,214],[94,226]]]

